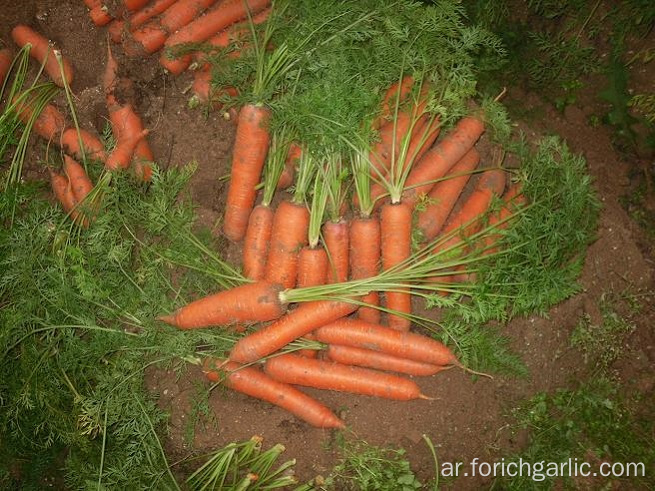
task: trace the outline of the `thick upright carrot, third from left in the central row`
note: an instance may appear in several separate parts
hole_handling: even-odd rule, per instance
[[[309,211],[304,205],[282,201],[275,211],[266,279],[293,288],[298,276],[298,253],[307,244]]]

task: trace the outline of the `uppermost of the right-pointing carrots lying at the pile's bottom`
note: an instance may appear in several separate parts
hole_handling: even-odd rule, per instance
[[[460,366],[453,352],[435,339],[359,319],[339,319],[317,328],[315,334],[322,343],[379,351],[431,365]]]

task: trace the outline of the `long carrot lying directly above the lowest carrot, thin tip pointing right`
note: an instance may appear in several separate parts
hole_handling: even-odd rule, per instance
[[[264,372],[275,380],[317,389],[336,390],[395,401],[427,399],[411,380],[367,368],[312,360],[296,355],[275,356],[266,361]]]

